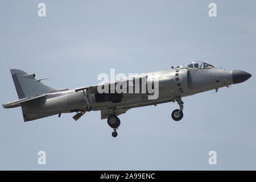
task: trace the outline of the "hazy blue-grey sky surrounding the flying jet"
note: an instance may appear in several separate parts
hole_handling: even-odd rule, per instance
[[[38,3],[46,3],[39,18]],[[208,5],[217,4],[210,18]],[[9,69],[55,88],[97,84],[99,73],[159,71],[191,60],[253,75],[230,88],[120,115],[113,138],[100,111],[23,122],[0,114],[0,169],[256,169],[255,1],[1,1],[1,104],[18,99]],[[39,166],[38,151],[47,154]],[[217,165],[208,152],[217,152]]]

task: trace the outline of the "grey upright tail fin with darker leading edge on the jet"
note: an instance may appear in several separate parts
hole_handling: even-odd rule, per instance
[[[11,69],[10,71],[19,99],[60,91],[60,89],[51,88],[44,85],[40,80],[36,80],[35,74],[28,75],[19,69]]]

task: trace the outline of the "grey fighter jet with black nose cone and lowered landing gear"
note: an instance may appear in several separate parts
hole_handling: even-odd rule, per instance
[[[120,125],[117,115],[131,108],[177,102],[180,108],[175,109],[171,116],[175,121],[180,121],[184,104],[181,98],[213,89],[217,92],[218,88],[238,84],[251,77],[245,71],[226,71],[203,61],[192,61],[165,71],[143,73],[112,83],[68,90],[51,88],[41,82],[44,79],[36,80],[35,74],[29,75],[19,69],[10,71],[19,100],[7,102],[3,107],[21,106],[24,122],[55,114],[60,117],[61,113],[73,112],[77,113],[73,117],[77,121],[86,111],[99,110],[101,119],[107,118],[108,125],[114,129],[113,137],[117,137],[116,130]],[[155,79],[156,76],[158,79]],[[135,83],[138,83],[138,88]],[[121,92],[115,90],[118,85]],[[99,88],[105,91],[99,91]],[[157,97],[150,98],[156,90]]]

